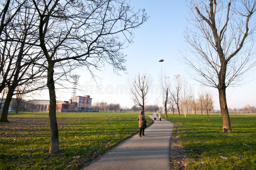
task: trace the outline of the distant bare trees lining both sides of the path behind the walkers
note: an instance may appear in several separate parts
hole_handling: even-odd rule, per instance
[[[150,89],[151,82],[146,73],[138,74],[129,83],[130,90],[132,92],[132,100],[134,106],[132,110],[142,111],[156,111],[159,110],[157,105],[145,105],[147,99],[147,93]],[[169,77],[165,77],[165,81],[162,83],[164,92],[164,114],[167,118],[167,106],[171,106],[171,110],[174,114],[174,108],[177,108],[177,112],[180,115],[180,108],[183,107],[183,112],[186,116],[187,112],[201,112],[205,111],[207,115],[209,111],[213,109],[213,97],[210,92],[204,91],[198,94],[199,98],[195,99],[194,90],[188,85],[188,82],[180,75],[176,75],[173,80]],[[171,83],[172,82],[172,83]],[[139,108],[138,108],[139,107]],[[200,108],[200,109],[199,109]],[[199,111],[200,110],[200,111]]]

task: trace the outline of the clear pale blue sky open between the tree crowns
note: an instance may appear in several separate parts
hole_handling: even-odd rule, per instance
[[[161,2],[161,3],[160,3]],[[84,68],[76,70],[80,75],[76,95],[90,95],[92,104],[95,102],[119,103],[123,107],[131,108],[134,105],[129,94],[128,80],[131,80],[137,73],[148,73],[152,81],[153,88],[149,91],[146,104],[162,105],[162,94],[159,76],[161,75],[161,63],[159,59],[164,59],[162,63],[163,75],[173,78],[174,75],[181,75],[187,79],[188,84],[194,87],[197,94],[202,89],[198,83],[189,78],[185,71],[186,65],[179,61],[180,49],[184,46],[183,31],[188,26],[187,1],[173,0],[131,0],[130,5],[135,9],[145,9],[149,19],[146,23],[136,29],[133,43],[123,50],[127,54],[127,73],[113,73],[112,66],[94,71],[100,79],[97,82],[92,80],[88,71]],[[254,67],[255,69],[255,67]],[[256,105],[255,72],[251,73],[247,80],[249,83],[241,87],[227,89],[227,102],[229,108],[242,108],[246,104]],[[72,84],[67,84],[72,87]],[[220,109],[218,91],[211,88],[213,94],[214,109]],[[47,91],[42,93],[45,98]],[[57,90],[57,100],[68,100],[72,97],[72,90],[65,92]]]

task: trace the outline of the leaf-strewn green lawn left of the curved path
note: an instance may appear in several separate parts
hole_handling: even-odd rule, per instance
[[[137,133],[137,116],[57,113],[60,152],[48,154],[48,113],[9,113],[10,122],[0,123],[0,169],[79,169]]]

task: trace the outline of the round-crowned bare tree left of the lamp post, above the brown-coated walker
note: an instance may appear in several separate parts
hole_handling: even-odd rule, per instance
[[[129,86],[134,104],[142,107],[142,111],[144,112],[146,95],[151,86],[151,78],[146,73],[142,75],[139,73],[132,79],[132,82],[129,82]]]

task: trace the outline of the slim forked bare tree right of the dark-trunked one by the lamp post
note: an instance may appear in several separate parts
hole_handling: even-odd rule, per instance
[[[169,91],[173,100],[175,101],[176,105],[177,105],[177,109],[178,109],[178,113],[180,115],[180,105],[179,105],[179,100],[180,100],[180,90],[181,90],[181,78],[180,75],[175,75],[174,76],[174,90],[173,91]]]

